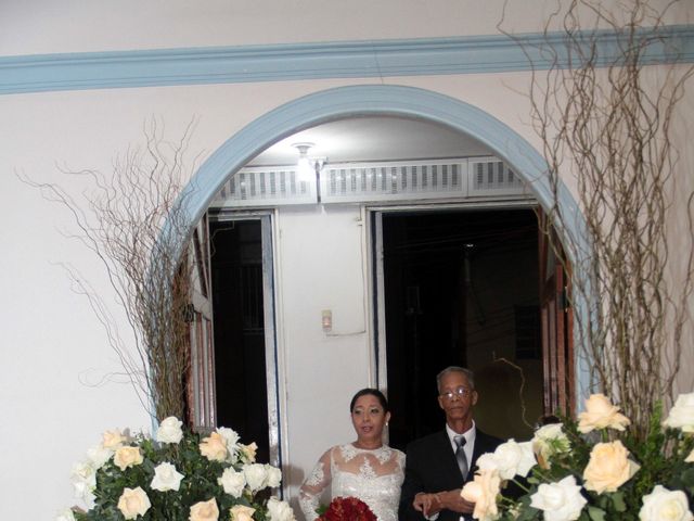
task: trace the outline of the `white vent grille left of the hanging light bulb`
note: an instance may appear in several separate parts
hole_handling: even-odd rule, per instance
[[[213,206],[314,203],[314,187],[313,182],[300,181],[293,168],[243,168],[229,178],[215,198]]]

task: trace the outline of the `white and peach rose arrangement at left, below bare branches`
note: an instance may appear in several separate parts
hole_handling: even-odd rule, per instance
[[[106,431],[72,473],[88,510],[64,510],[57,521],[294,521],[286,501],[270,497],[282,473],[255,461],[256,444],[218,428],[208,436],[169,417],[155,439]]]

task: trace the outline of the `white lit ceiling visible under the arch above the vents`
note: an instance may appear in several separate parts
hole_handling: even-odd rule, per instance
[[[298,151],[292,143],[311,142],[311,158],[327,163],[428,160],[492,155],[478,141],[442,125],[393,116],[351,117],[290,136],[266,149],[248,166],[291,165]]]

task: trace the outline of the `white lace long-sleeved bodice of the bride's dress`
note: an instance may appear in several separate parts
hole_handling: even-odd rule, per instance
[[[404,454],[396,448],[368,450],[338,445],[321,456],[299,488],[299,506],[306,520],[313,521],[320,496],[330,486],[331,499],[358,497],[378,521],[397,521],[403,472]]]

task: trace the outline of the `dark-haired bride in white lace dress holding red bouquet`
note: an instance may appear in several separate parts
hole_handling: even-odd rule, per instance
[[[321,493],[330,486],[331,499],[358,497],[378,521],[397,521],[404,454],[383,444],[388,402],[376,389],[362,389],[349,404],[357,441],[327,449],[299,488],[299,506],[307,521],[318,513]]]

